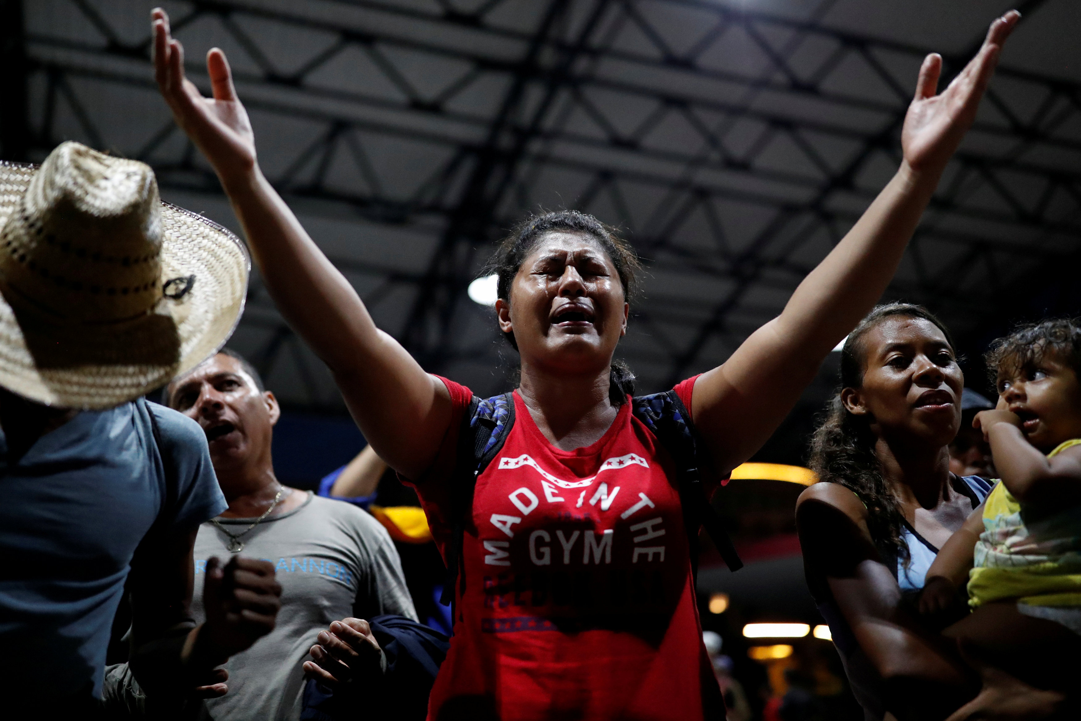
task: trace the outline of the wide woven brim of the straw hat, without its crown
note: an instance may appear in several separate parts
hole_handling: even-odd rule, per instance
[[[17,208],[37,165],[0,161],[0,227]],[[88,358],[147,357],[138,347],[129,355],[125,343],[152,344],[152,334],[169,325],[178,347],[168,362],[50,366],[31,353],[15,310],[0,295],[0,387],[46,405],[82,410],[108,409],[133,400],[185,373],[217,352],[232,335],[244,309],[251,257],[232,232],[201,215],[162,202],[161,277],[195,276],[191,290],[178,301],[165,299],[162,311],[124,328],[74,330],[72,343],[97,346]],[[170,321],[171,319],[171,321]],[[111,348],[108,346],[111,344]],[[34,345],[32,343],[30,344]],[[119,348],[117,346],[120,346]],[[152,353],[150,353],[152,356]]]

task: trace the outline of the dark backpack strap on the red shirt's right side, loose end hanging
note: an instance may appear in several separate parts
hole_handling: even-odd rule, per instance
[[[706,533],[712,538],[729,570],[738,571],[743,568],[743,561],[732,545],[721,517],[709,503],[702,486],[698,472],[700,440],[683,401],[675,390],[668,390],[639,396],[631,403],[635,417],[657,437],[676,463],[676,484],[680,505],[683,507],[683,524],[691,543],[691,562],[695,576],[698,568],[698,529],[702,526],[706,528]]]

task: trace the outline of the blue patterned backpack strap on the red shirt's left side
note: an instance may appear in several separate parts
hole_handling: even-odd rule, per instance
[[[503,449],[510,427],[515,425],[515,398],[511,393],[480,400],[473,396],[462,416],[458,445],[451,476],[451,545],[446,549],[446,582],[439,602],[451,605],[462,569],[462,543],[466,522],[472,510],[472,492],[477,477],[484,472]],[[461,574],[465,591],[465,574]],[[451,617],[454,617],[452,612]]]

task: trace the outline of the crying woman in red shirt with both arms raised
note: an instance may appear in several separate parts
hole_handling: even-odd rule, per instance
[[[676,387],[717,477],[762,445],[885,290],[1017,18],[996,19],[940,94],[942,58],[927,56],[893,179],[780,316],[723,365]],[[217,172],[267,289],[330,366],[364,437],[415,484],[445,549],[448,481],[472,393],[426,373],[375,326],[271,188],[225,54],[208,54],[213,98],[204,98],[184,78],[165,13],[156,10],[152,22],[162,95]],[[476,481],[454,638],[429,718],[719,718],[672,460],[631,413],[626,377],[613,372],[633,252],[595,218],[560,212],[523,223],[495,266],[499,330],[521,358],[517,419],[498,463]],[[333,684],[372,655],[363,622],[336,623],[306,668]]]

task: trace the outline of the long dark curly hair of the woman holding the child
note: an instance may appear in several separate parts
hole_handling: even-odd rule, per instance
[[[900,540],[904,516],[897,497],[882,477],[882,466],[875,455],[877,438],[864,416],[849,413],[841,401],[841,390],[859,388],[864,380],[867,332],[888,318],[922,318],[938,326],[950,348],[949,329],[923,306],[891,303],[873,308],[844,341],[841,350],[841,387],[829,401],[811,439],[811,468],[818,480],[839,483],[855,493],[867,506],[867,526],[883,558],[896,557],[907,565],[908,548]]]

